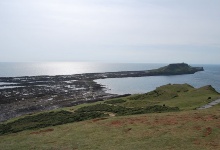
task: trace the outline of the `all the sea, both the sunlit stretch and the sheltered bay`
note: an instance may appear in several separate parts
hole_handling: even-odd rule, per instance
[[[168,64],[157,63],[94,63],[94,62],[1,62],[0,77],[72,75],[116,71],[139,71],[157,69]],[[195,88],[213,86],[220,92],[219,64],[189,64],[204,67],[204,71],[188,75],[147,76],[129,78],[109,78],[95,80],[103,85],[107,93],[146,93],[165,84],[188,83]],[[0,84],[3,84],[0,82]]]

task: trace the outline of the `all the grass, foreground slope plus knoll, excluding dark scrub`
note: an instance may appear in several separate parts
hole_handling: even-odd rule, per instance
[[[62,110],[74,114],[80,108],[85,108],[85,106],[89,108],[88,106],[101,103],[140,109],[154,105],[165,105],[179,107],[181,111],[127,116],[115,116],[112,112],[99,111],[106,115],[80,122],[1,135],[0,149],[220,149],[220,104],[210,109],[195,110],[195,108],[219,97],[219,93],[210,86],[195,89],[187,84],[166,85],[147,94],[64,108]],[[67,114],[72,115],[71,113]],[[29,115],[29,117],[31,116]],[[65,117],[63,119],[66,120]],[[8,122],[16,122],[17,120],[19,119]],[[50,119],[48,118],[48,120]],[[28,126],[25,123],[23,125]]]

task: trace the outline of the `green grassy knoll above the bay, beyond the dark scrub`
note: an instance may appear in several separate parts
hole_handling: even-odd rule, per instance
[[[208,99],[208,97],[211,97],[211,99]],[[126,107],[144,107],[165,104],[170,107],[179,107],[181,110],[192,110],[218,97],[219,94],[211,86],[195,89],[188,84],[174,84],[161,86],[146,94],[126,97],[124,99],[127,102],[120,105]]]

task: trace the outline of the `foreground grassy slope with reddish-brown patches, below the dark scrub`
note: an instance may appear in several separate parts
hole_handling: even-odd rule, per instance
[[[1,136],[0,149],[219,149],[220,105],[93,119]]]

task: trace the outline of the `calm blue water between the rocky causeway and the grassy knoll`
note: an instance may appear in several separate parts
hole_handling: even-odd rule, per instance
[[[195,88],[211,85],[220,92],[220,65],[193,65],[203,66],[204,71],[195,74],[174,76],[148,76],[136,78],[98,79],[97,83],[106,87],[107,93],[136,94],[146,93],[166,84],[190,84]]]

